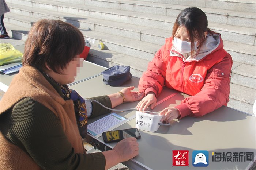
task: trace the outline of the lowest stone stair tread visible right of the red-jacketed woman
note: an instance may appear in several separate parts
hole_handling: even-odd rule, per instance
[[[256,99],[256,89],[230,83],[229,97],[245,103],[253,104]]]

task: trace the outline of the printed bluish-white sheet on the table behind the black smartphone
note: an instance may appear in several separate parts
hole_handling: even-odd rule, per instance
[[[120,123],[123,123],[125,120],[125,117],[119,116],[116,113],[111,113],[108,116],[90,123],[88,125],[87,132],[98,138],[102,135],[102,132],[113,130],[118,127],[118,125],[121,125]]]

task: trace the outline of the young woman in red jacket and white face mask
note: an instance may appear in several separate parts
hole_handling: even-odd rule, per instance
[[[139,82],[146,97],[138,110],[155,107],[163,86],[191,95],[176,107],[160,112],[170,122],[187,115],[203,116],[229,101],[232,58],[223,49],[221,34],[208,27],[206,14],[186,8],[178,15],[172,37],[155,54]]]

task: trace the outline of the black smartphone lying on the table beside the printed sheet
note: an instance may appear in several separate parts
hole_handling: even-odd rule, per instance
[[[116,142],[129,137],[140,138],[140,132],[138,131],[137,128],[131,128],[131,129],[103,132],[102,136],[103,136],[104,142],[108,143],[108,142]]]

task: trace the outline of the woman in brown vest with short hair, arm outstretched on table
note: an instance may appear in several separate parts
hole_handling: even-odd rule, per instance
[[[87,112],[95,117],[108,111],[84,99],[67,84],[74,81],[83,34],[60,20],[39,20],[25,42],[23,68],[0,101],[0,169],[109,169],[138,155],[136,138],[127,138],[113,150],[86,154]],[[143,94],[122,89],[99,96],[114,108]]]

